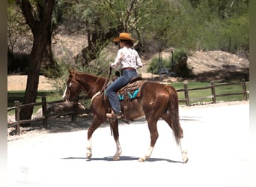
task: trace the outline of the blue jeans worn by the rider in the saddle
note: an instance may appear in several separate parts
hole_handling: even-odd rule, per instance
[[[121,71],[121,76],[118,77],[115,82],[112,82],[112,84],[109,85],[108,88],[106,88],[106,95],[109,98],[110,105],[112,106],[114,112],[121,112],[120,101],[116,92],[123,88],[125,85],[127,85],[129,81],[135,76],[138,76],[136,70]]]

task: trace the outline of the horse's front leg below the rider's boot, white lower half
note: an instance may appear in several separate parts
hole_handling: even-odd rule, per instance
[[[119,142],[119,131],[118,131],[118,120],[109,119],[109,124],[112,129],[112,132],[114,134],[115,144],[116,144],[116,151],[115,156],[113,157],[113,160],[119,160],[120,155],[122,153],[121,145]]]

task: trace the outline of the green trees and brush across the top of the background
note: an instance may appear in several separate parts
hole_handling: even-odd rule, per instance
[[[31,1],[38,2],[43,1]],[[8,46],[12,49],[17,46],[16,38],[28,35],[29,29],[13,1],[8,1],[7,8]],[[97,40],[108,43],[119,32],[129,31],[139,42],[141,55],[169,47],[188,52],[225,50],[245,58],[249,53],[249,0],[59,0],[52,22],[54,26],[64,24],[67,33],[94,33],[88,37],[92,48],[98,47],[94,46]],[[97,58],[103,47],[94,52]]]

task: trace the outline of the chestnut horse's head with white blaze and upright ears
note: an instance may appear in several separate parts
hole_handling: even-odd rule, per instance
[[[71,101],[82,91],[82,86],[76,81],[76,72],[71,70],[68,70],[68,72],[70,76],[67,79],[66,88],[62,96],[64,101]]]

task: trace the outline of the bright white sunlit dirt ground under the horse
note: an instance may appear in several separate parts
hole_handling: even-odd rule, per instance
[[[9,186],[249,186],[248,101],[180,107],[187,164],[180,162],[179,147],[162,120],[148,162],[137,162],[149,145],[144,120],[120,124],[118,162],[112,162],[115,142],[109,126],[97,129],[88,160],[88,123],[55,120],[48,130],[8,141]]]

